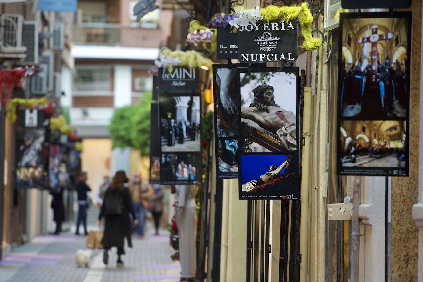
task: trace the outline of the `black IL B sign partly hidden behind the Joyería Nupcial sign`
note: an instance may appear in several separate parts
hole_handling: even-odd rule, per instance
[[[217,27],[216,40],[216,59],[238,59],[236,33],[231,33],[231,28]]]

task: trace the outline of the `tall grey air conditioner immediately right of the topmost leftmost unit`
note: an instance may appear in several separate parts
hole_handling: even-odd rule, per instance
[[[24,65],[38,64],[38,22],[25,21],[22,26],[22,46],[27,48]]]

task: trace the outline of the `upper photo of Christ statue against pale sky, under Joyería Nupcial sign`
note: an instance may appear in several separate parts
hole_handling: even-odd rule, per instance
[[[240,73],[242,152],[297,151],[297,75]]]

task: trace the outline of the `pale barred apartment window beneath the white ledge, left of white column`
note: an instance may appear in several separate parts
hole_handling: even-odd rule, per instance
[[[111,92],[111,68],[76,68],[73,91],[75,92]]]

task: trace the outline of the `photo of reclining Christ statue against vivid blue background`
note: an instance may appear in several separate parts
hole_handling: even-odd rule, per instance
[[[289,155],[242,155],[239,196],[244,200],[271,197],[272,200],[299,199],[296,161]],[[283,198],[283,195],[286,197]]]

